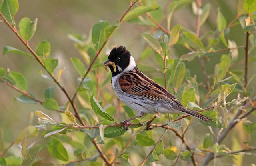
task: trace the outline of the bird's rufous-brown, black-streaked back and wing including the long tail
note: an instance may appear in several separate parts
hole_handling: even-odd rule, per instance
[[[122,75],[119,78],[118,83],[121,90],[126,93],[134,94],[146,99],[168,102],[174,110],[179,110],[206,122],[212,120],[211,118],[183,106],[175,96],[168,92],[168,90],[140,72],[137,67]]]

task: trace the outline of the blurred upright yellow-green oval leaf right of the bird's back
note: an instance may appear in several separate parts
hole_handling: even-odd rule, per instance
[[[172,85],[174,88],[179,88],[182,84],[186,74],[186,67],[184,62],[180,62],[176,68],[175,76],[172,79]]]

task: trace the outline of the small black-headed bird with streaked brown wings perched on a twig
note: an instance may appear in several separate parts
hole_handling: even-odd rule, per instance
[[[106,70],[107,66],[110,68],[112,73],[111,83],[118,98],[130,108],[139,112],[138,116],[121,122],[126,126],[126,130],[128,130],[128,122],[143,116],[144,113],[156,114],[154,118],[148,121],[146,130],[150,129],[151,122],[159,113],[179,112],[206,122],[212,120],[186,108],[168,90],[140,72],[134,58],[124,46],[114,47],[108,56],[108,60],[104,62],[104,66]]]

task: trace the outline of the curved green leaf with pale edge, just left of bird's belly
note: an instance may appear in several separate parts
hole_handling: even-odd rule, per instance
[[[109,121],[114,121],[114,118],[100,106],[100,104],[97,102],[96,98],[93,95],[91,96],[91,106],[96,114],[100,115],[102,118]]]

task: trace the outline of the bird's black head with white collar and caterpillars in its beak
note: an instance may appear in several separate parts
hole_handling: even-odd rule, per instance
[[[116,71],[113,64],[116,66]],[[104,66],[108,66],[112,76],[116,76],[123,71],[133,70],[136,64],[134,58],[124,46],[117,46],[111,50],[108,60],[104,62]]]

